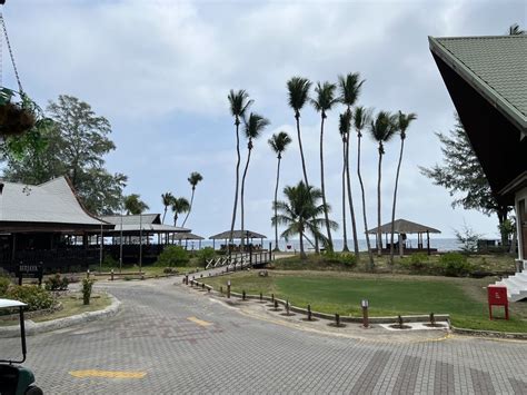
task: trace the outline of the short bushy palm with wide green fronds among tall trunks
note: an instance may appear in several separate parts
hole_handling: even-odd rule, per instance
[[[306,186],[304,181],[298,182],[296,187],[286,187],[284,189],[287,201],[276,201],[275,209],[280,214],[272,217],[274,225],[286,225],[287,229],[280,235],[286,240],[291,236],[299,235],[300,238],[300,257],[307,259],[304,248],[304,238],[306,233],[311,233],[316,238],[328,243],[326,236],[320,233],[320,226],[326,223],[319,218],[322,213],[329,210],[324,204],[318,201],[322,194],[319,189]],[[337,229],[337,224],[330,221],[331,228]]]

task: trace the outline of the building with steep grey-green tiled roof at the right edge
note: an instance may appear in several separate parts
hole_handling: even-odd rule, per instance
[[[430,37],[429,43],[493,192],[515,207],[518,269],[527,269],[527,36]],[[507,284],[509,296],[527,297],[526,275]]]

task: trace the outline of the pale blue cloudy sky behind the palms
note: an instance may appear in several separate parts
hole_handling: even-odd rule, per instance
[[[271,125],[255,141],[246,184],[246,228],[272,237],[271,203],[277,159],[267,140],[287,131],[280,190],[302,178],[295,118],[286,82],[294,76],[336,82],[359,72],[358,103],[375,110],[416,112],[405,142],[396,218],[453,237],[465,225],[497,238],[497,219],[453,208],[453,197],[419,172],[443,161],[435,132],[454,125],[454,106],[428,48],[428,36],[504,34],[526,27],[524,1],[169,1],[8,0],[3,17],[24,90],[40,106],[59,95],[91,105],[112,126],[117,149],[107,168],[129,177],[150,213],[161,194],[190,198],[187,178],[203,176],[187,227],[209,237],[230,228],[235,196],[236,135],[227,95],[245,89],[251,110]],[[3,52],[3,81],[13,83]],[[312,93],[312,92],[311,92]],[[341,224],[341,140],[338,115],[325,129],[325,178],[331,218]],[[301,113],[310,182],[320,185],[320,117]],[[351,162],[356,140],[351,141]],[[242,165],[247,141],[242,139]],[[390,220],[399,140],[382,158],[381,221]],[[361,170],[368,225],[377,224],[377,149],[365,135]],[[352,167],[354,203],[361,214]],[[239,214],[237,228],[239,228]],[[360,217],[359,217],[360,218]],[[167,223],[170,223],[167,219]],[[364,226],[357,220],[358,231]],[[341,227],[336,238],[341,238]],[[349,210],[348,210],[348,234]]]

